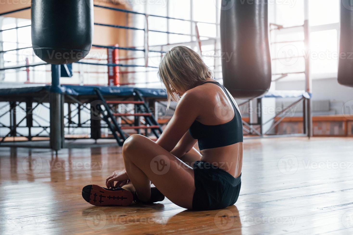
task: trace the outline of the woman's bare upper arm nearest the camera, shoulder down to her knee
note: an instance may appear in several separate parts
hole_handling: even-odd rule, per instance
[[[198,101],[199,97],[195,92],[192,91],[187,91],[181,97],[172,119],[170,119],[160,138],[158,138],[156,141],[158,145],[163,147],[168,152],[171,152],[175,146],[177,146],[180,139],[182,139],[184,135],[189,134],[186,132],[201,113],[201,105],[199,105]],[[185,138],[189,139],[187,136]],[[194,144],[195,143],[196,142],[194,142]],[[185,147],[186,150],[186,140],[185,142],[181,141],[181,144]]]

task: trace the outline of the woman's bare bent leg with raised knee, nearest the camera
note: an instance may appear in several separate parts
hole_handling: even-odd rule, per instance
[[[170,201],[192,209],[193,169],[143,135],[131,135],[122,147],[127,175],[142,201],[151,197],[151,181]]]

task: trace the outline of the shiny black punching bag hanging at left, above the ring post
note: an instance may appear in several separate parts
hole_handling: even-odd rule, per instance
[[[92,46],[93,0],[32,0],[32,45],[50,64],[83,59]]]

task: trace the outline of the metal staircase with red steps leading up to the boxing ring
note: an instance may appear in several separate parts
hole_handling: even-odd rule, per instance
[[[130,136],[130,134],[134,134],[126,133],[124,130],[134,130],[136,131],[135,133],[140,134],[140,131],[144,129],[146,136],[149,135],[148,130],[150,130],[157,139],[162,134],[160,125],[156,121],[154,115],[149,111],[147,104],[138,90],[134,90],[134,100],[131,101],[106,101],[99,89],[95,89],[95,92],[97,93],[98,99],[102,102],[102,105],[97,108],[100,108],[99,111],[103,116],[103,120],[107,123],[108,128],[120,146],[124,144],[124,141]],[[119,108],[114,107],[119,106],[120,104],[134,104],[134,113],[119,113]],[[102,109],[102,106],[104,109]],[[130,119],[127,119],[128,116],[133,116],[134,120],[131,121]],[[144,119],[141,120],[141,117]],[[118,123],[117,118],[121,119],[120,123]]]

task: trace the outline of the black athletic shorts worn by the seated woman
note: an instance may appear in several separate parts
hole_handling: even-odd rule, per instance
[[[241,174],[234,178],[228,172],[205,161],[193,165],[195,193],[193,210],[223,209],[237,202],[241,186]]]

